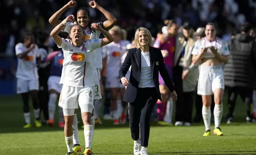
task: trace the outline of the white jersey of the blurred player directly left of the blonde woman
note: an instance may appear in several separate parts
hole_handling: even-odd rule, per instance
[[[126,51],[126,44],[122,40],[103,46],[103,58],[107,57],[107,77],[118,77],[122,65],[121,59]]]

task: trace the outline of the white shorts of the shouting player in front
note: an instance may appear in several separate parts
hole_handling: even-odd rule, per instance
[[[64,115],[74,115],[73,110],[78,109],[78,106],[81,109],[81,113],[92,113],[94,110],[93,98],[93,87],[72,87],[63,85],[58,105],[63,108]]]

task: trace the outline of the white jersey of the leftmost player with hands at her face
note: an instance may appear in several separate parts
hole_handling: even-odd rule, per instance
[[[28,48],[23,43],[18,43],[15,46],[16,55],[27,51]],[[38,57],[38,47],[30,51],[24,59],[18,58],[16,77],[19,79],[31,80],[38,79],[37,74],[37,57]]]

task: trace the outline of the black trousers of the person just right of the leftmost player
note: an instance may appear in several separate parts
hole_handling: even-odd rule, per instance
[[[49,93],[48,93],[47,80],[39,79],[38,99],[39,99],[39,107],[40,107],[40,117],[41,117],[41,112],[43,112],[43,116],[47,121],[49,119],[49,113],[48,113]]]

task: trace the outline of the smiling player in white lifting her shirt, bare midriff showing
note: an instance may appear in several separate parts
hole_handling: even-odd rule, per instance
[[[213,133],[223,136],[220,122],[223,114],[224,76],[222,63],[228,62],[229,48],[227,43],[217,38],[213,23],[208,23],[205,30],[206,37],[197,40],[192,50],[192,64],[200,62],[198,78],[198,95],[202,95],[202,115],[206,132],[203,136],[211,135],[211,95],[214,95],[213,110],[215,129]]]

